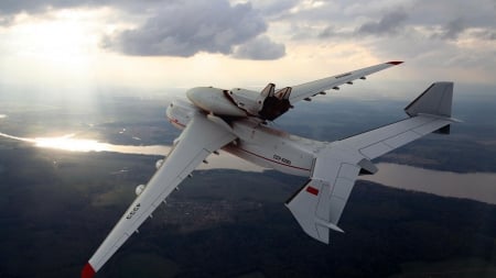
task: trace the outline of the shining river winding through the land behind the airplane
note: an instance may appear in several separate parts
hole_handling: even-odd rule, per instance
[[[170,146],[132,146],[114,145],[95,140],[75,138],[74,134],[60,137],[18,137],[4,133],[0,136],[31,143],[36,147],[65,149],[71,152],[115,152],[122,154],[166,155]],[[412,166],[380,163],[379,171],[371,176],[360,176],[359,179],[370,180],[387,187],[401,188],[443,197],[467,198],[496,204],[496,174],[430,170]],[[251,163],[237,158],[226,152],[211,155],[208,164],[200,165],[198,169],[237,169],[261,173],[265,169]]]

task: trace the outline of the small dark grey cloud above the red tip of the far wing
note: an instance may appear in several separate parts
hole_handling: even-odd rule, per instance
[[[379,21],[367,22],[360,25],[357,34],[396,34],[408,19],[408,14],[403,11],[392,11],[386,13]]]

